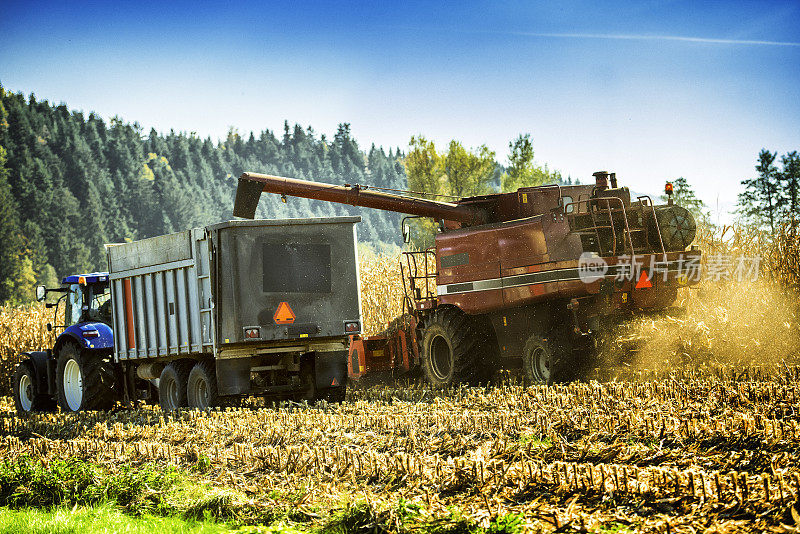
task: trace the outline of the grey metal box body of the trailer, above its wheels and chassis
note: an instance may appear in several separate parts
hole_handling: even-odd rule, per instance
[[[262,344],[344,338],[344,323],[361,321],[359,220],[231,221],[109,246],[115,358],[216,354],[220,331],[225,344],[247,343],[243,327],[251,325],[260,327],[263,335],[255,341]],[[212,237],[215,251],[219,247],[213,255]],[[290,271],[280,259],[287,246],[286,257],[295,262]],[[306,260],[324,261],[309,268]],[[296,287],[267,289],[288,275]],[[273,320],[282,301],[293,307],[293,323]]]

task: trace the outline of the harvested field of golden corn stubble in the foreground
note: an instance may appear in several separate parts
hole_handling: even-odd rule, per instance
[[[146,407],[21,420],[6,398],[0,456],[6,465],[21,455],[44,464],[74,457],[108,472],[175,466],[208,495],[224,496],[223,517],[299,530],[800,524],[800,369],[620,378],[447,392],[373,387],[352,390],[340,406],[174,417]]]

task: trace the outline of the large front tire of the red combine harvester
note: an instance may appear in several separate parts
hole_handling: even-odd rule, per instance
[[[494,370],[486,332],[455,308],[433,313],[422,335],[422,370],[428,383],[444,388],[476,384]]]

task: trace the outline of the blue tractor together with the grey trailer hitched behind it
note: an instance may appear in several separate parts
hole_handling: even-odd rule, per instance
[[[229,221],[108,245],[108,273],[50,290],[64,293],[66,329],[23,355],[18,411],[343,400],[348,336],[361,332],[360,220]]]

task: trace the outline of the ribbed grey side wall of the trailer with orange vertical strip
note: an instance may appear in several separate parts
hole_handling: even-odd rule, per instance
[[[213,353],[207,247],[203,228],[108,247],[118,361]]]

